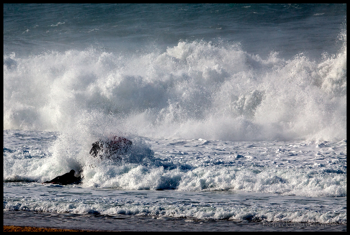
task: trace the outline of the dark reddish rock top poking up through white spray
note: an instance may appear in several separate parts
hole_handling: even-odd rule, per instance
[[[121,158],[131,148],[132,141],[124,137],[114,136],[107,141],[99,139],[92,144],[90,155],[93,157],[107,157],[117,155],[117,158]]]

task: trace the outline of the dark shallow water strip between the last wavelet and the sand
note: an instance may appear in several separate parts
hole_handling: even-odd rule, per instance
[[[14,220],[16,222],[14,222]],[[295,223],[295,222],[250,222],[229,220],[191,220],[183,218],[156,218],[154,216],[106,216],[72,215],[23,211],[4,211],[4,225],[37,226],[60,229],[82,229],[100,231],[139,231],[139,232],[322,232],[346,231],[346,224]]]

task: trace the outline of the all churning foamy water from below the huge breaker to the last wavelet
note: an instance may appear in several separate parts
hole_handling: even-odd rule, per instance
[[[346,223],[346,140],[133,137],[124,161],[99,162],[77,136],[4,130],[5,211]],[[82,184],[41,184],[70,169]]]

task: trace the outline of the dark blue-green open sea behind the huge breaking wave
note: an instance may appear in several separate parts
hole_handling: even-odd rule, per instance
[[[337,53],[346,4],[4,4],[3,27],[4,54],[152,51],[204,40],[317,58]]]

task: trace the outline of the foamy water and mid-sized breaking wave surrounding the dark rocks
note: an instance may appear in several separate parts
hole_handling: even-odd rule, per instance
[[[346,140],[231,142],[126,135],[133,147],[123,160],[98,160],[89,155],[93,135],[52,134],[4,131],[4,182],[44,182],[75,169],[82,185],[93,188],[346,197]],[[21,145],[8,141],[23,136],[27,139]]]

